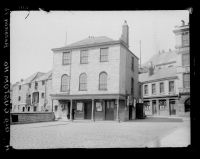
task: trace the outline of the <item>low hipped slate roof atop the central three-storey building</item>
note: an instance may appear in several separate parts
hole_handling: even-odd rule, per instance
[[[83,47],[87,45],[97,45],[97,44],[111,43],[111,42],[115,42],[115,40],[106,36],[88,37],[83,40],[77,41],[75,43],[66,45],[64,47],[54,48],[52,50],[71,49],[71,48]]]

